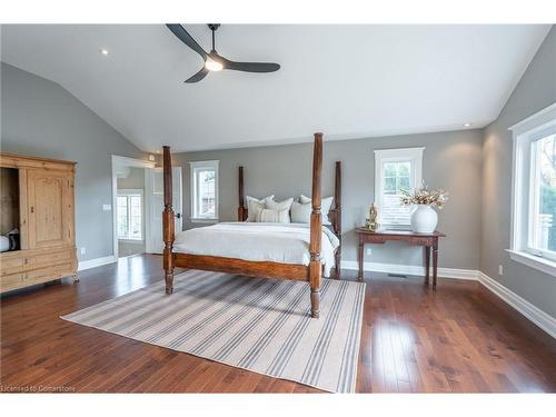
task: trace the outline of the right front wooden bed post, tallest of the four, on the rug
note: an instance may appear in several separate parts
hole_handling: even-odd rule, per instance
[[[320,264],[320,244],[322,238],[322,217],[320,212],[320,175],[322,171],[322,133],[315,133],[315,146],[312,150],[312,211],[310,222],[310,264],[309,285],[311,289],[311,317],[318,318],[320,312],[320,277],[322,265]]]

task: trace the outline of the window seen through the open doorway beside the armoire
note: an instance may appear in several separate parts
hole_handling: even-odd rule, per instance
[[[118,190],[118,239],[142,240],[142,190]]]

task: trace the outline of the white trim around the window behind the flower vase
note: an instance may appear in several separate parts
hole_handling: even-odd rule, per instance
[[[375,203],[378,207],[379,222],[381,226],[387,226],[388,228],[407,228],[409,224],[385,224],[380,219],[381,212],[381,190],[384,189],[384,172],[383,163],[388,160],[411,160],[414,178],[414,187],[418,187],[423,181],[423,152],[425,147],[418,148],[397,148],[397,149],[376,149],[375,150]]]

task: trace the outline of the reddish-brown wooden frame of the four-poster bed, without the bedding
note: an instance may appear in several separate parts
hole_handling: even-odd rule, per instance
[[[266,278],[279,278],[289,280],[308,281],[310,287],[311,317],[319,317],[320,305],[320,281],[322,277],[324,265],[321,261],[322,236],[326,234],[322,229],[321,215],[321,171],[322,171],[322,133],[315,133],[314,153],[312,153],[312,192],[311,192],[311,214],[309,229],[305,229],[308,236],[308,255],[307,262],[280,262],[272,260],[251,260],[249,257],[225,257],[215,256],[212,251],[198,254],[179,252],[175,250],[175,227],[173,227],[173,210],[172,210],[172,190],[171,190],[171,156],[170,148],[163,147],[163,193],[165,193],[165,210],[162,212],[162,232],[165,240],[163,250],[163,269],[166,280],[166,292],[171,294],[173,290],[173,268],[190,268],[201,269],[218,272],[238,274]],[[239,207],[238,221],[245,221],[248,216],[245,207],[244,192],[244,168],[239,167]],[[334,250],[332,259],[335,264],[336,275],[339,276],[339,267],[341,260],[341,166],[336,162],[335,175],[335,205],[330,209],[328,217],[330,219],[332,232],[336,236],[335,247],[330,247],[325,242],[325,248],[328,250],[326,255],[330,255]],[[236,226],[241,224],[236,224]],[[248,226],[248,224],[246,224]],[[252,224],[251,224],[252,226]],[[210,227],[201,228],[210,229]],[[199,229],[196,229],[199,232]],[[299,229],[295,230],[296,232]],[[329,234],[329,231],[328,231]],[[218,236],[212,230],[212,236]],[[218,239],[216,237],[215,239]],[[251,238],[252,239],[252,238]],[[215,245],[212,245],[215,246]],[[307,246],[304,247],[307,252]],[[210,254],[210,255],[207,255]],[[329,257],[329,256],[328,256]]]

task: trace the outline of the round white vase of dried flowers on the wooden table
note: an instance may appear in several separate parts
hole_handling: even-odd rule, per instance
[[[448,193],[443,189],[429,190],[425,183],[414,190],[401,190],[401,205],[415,206],[411,212],[411,230],[417,234],[431,234],[438,224],[438,214],[433,207],[439,210],[448,200]]]

